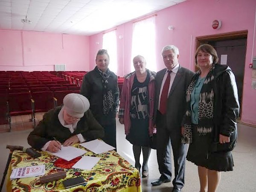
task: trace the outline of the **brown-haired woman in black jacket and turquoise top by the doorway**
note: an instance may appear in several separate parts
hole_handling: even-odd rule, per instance
[[[234,166],[238,93],[234,74],[230,67],[217,64],[211,45],[198,47],[195,62],[200,70],[186,90],[182,142],[190,143],[186,158],[198,166],[200,192],[215,192],[221,172]]]

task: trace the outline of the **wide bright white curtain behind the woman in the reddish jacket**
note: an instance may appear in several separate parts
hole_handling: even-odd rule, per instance
[[[134,71],[133,58],[142,55],[146,62],[146,68],[156,71],[156,46],[155,46],[155,17],[135,22],[133,25],[131,71]]]

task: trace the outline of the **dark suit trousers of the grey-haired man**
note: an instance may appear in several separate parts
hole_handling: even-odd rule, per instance
[[[166,126],[166,115],[157,111],[157,162],[161,177],[171,179],[172,177],[172,157],[173,152],[175,178],[173,186],[182,188],[184,186],[186,145],[181,143],[181,129],[170,129]]]

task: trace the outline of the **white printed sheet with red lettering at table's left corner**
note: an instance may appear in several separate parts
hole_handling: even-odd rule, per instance
[[[19,167],[12,170],[10,180],[44,175],[44,164],[38,166]]]

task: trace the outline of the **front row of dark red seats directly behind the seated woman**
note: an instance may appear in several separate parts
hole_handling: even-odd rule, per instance
[[[11,116],[31,114],[35,125],[35,113],[47,112],[49,109],[62,105],[64,96],[69,93],[80,93],[80,90],[0,92],[0,124],[9,122],[11,131]]]

